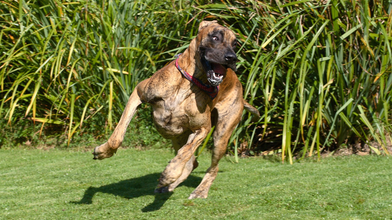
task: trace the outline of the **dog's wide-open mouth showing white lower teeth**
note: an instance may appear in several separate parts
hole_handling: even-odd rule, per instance
[[[231,66],[228,65],[209,62],[204,56],[202,57],[202,62],[207,73],[207,79],[212,86],[221,84],[223,78],[226,76],[227,68],[231,68]]]

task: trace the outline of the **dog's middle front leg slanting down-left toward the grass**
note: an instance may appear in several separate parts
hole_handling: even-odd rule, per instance
[[[162,172],[157,189],[155,190],[156,192],[159,192],[160,188],[168,186],[181,176],[185,164],[190,160],[194,151],[207,137],[209,132],[210,129],[202,128],[189,135],[186,144],[178,150],[177,155],[169,162]]]

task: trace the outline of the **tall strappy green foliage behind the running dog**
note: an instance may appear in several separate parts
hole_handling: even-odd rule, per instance
[[[137,83],[183,51],[202,20],[218,20],[237,33],[244,98],[262,115],[244,116],[235,156],[280,149],[293,162],[358,142],[388,154],[391,9],[379,0],[2,1],[0,129],[15,137],[0,146],[105,138]],[[146,129],[131,132],[150,134],[149,111],[132,122]]]

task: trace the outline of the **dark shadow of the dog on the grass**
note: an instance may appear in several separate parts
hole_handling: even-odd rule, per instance
[[[137,198],[144,195],[155,195],[152,203],[142,209],[143,212],[155,211],[160,209],[167,199],[173,194],[172,192],[154,193],[157,185],[157,179],[160,173],[152,173],[145,176],[122,180],[117,183],[111,183],[100,187],[88,187],[84,192],[83,198],[80,201],[72,201],[75,204],[91,204],[92,197],[97,192],[110,193],[116,196],[121,196],[126,199]],[[188,187],[197,187],[202,181],[202,178],[189,175],[188,178],[181,183]]]

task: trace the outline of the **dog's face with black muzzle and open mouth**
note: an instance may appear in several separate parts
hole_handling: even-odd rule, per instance
[[[237,71],[237,56],[234,52],[237,45],[236,36],[217,21],[203,21],[199,26],[197,38],[200,62],[207,79],[211,85],[217,86],[225,78],[228,68]]]

